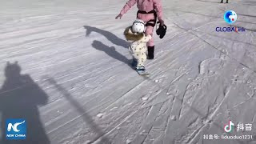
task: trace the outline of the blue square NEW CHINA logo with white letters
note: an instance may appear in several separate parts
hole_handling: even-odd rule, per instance
[[[6,120],[6,139],[26,139],[26,120],[7,119]]]

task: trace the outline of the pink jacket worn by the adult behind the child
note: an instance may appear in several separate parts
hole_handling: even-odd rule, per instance
[[[138,10],[149,12],[151,10],[156,10],[158,15],[158,20],[162,20],[162,3],[161,0],[129,0],[126,5],[123,6],[120,14],[126,14],[132,6],[137,3]]]

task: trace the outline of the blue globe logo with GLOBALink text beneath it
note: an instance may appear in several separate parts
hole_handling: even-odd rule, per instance
[[[223,16],[224,21],[227,24],[233,24],[238,19],[238,14],[236,14],[233,10],[227,10]],[[238,26],[230,26],[230,27],[216,27],[217,32],[245,32],[246,29],[244,27]]]

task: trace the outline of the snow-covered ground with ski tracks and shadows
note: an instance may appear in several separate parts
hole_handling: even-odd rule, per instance
[[[3,144],[256,143],[255,0],[162,0],[168,31],[154,32],[149,78],[130,68],[122,35],[135,6],[114,19],[125,0],[0,2],[0,135],[6,118],[28,130]],[[246,32],[215,31],[226,10]],[[252,130],[225,133],[229,120]]]

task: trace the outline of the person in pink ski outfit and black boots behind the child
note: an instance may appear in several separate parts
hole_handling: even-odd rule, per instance
[[[122,18],[123,14],[126,14],[128,10],[134,4],[137,3],[138,13],[137,18],[142,19],[146,22],[146,35],[151,35],[153,37],[154,26],[156,25],[157,18],[161,26],[164,26],[164,21],[162,18],[162,3],[161,0],[129,0],[126,5],[123,6],[120,14],[116,17]],[[153,38],[147,42],[148,59],[154,59],[154,40]]]

